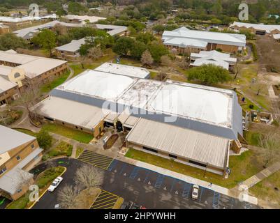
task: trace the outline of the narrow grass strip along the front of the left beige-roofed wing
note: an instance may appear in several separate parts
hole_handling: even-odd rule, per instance
[[[84,144],[88,144],[91,141],[91,139],[94,138],[94,136],[92,134],[89,134],[87,132],[74,130],[74,129],[68,128],[66,126],[56,125],[53,123],[47,123],[47,124],[43,125],[43,129],[47,130],[48,132],[61,134],[64,137],[67,137],[69,139],[74,139],[76,141],[80,141]]]

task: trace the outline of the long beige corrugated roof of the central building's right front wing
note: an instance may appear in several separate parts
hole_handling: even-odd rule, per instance
[[[225,169],[229,140],[141,118],[126,137],[128,142]]]

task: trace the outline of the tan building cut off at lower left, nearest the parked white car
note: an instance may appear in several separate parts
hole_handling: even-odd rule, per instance
[[[28,169],[40,161],[43,149],[35,137],[0,125],[0,196],[16,200],[29,190]]]

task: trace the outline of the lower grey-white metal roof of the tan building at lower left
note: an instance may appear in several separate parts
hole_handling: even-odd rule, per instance
[[[39,155],[43,151],[42,148],[36,148],[32,153],[30,153],[27,157],[24,158],[19,164],[17,164],[13,169],[5,173],[0,177],[0,188],[10,194],[15,194],[17,190],[20,189],[21,184],[21,176],[22,174],[26,175],[25,177],[32,178],[33,174],[30,174],[27,171],[22,170],[31,160]]]

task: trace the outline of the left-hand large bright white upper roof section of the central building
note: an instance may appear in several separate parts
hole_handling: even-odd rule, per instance
[[[58,89],[115,101],[126,89],[129,89],[135,81],[136,79],[124,75],[113,75],[108,72],[86,70],[77,77],[61,84]]]

